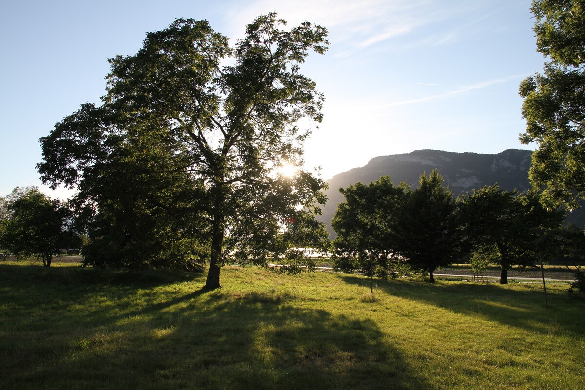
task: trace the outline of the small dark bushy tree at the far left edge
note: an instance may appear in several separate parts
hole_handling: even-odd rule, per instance
[[[2,223],[1,247],[19,257],[36,257],[50,267],[59,246],[67,240],[70,210],[37,188],[29,188],[8,205],[9,218]]]

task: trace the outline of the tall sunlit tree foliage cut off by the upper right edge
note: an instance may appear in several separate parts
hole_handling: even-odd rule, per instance
[[[545,201],[569,208],[585,199],[585,2],[534,0],[536,47],[550,61],[522,81],[520,140],[535,142],[530,179]]]

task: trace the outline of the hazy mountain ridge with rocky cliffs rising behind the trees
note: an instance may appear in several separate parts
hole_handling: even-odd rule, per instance
[[[339,188],[362,182],[364,184],[390,175],[394,184],[402,181],[418,186],[422,172],[430,174],[436,168],[445,178],[445,184],[455,195],[472,192],[484,185],[500,185],[501,189],[525,191],[530,187],[528,169],[530,150],[508,149],[498,154],[454,153],[441,150],[415,150],[412,153],[393,154],[373,158],[364,167],[353,168],[333,176],[325,191],[328,201],[319,218],[331,229],[331,219],[337,205],[343,202]]]

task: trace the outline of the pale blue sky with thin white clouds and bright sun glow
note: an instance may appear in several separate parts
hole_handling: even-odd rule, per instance
[[[328,179],[374,157],[417,149],[534,149],[518,85],[541,72],[529,0],[4,0],[0,12],[0,196],[42,185],[40,137],[105,94],[108,58],[133,55],[176,18],[207,19],[233,44],[278,12],[329,31],[302,73],[325,95],[305,142],[305,168]]]

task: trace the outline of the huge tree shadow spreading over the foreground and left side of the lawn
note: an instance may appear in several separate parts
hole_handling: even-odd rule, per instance
[[[59,275],[53,274],[57,283],[63,282]],[[295,307],[296,298],[276,292],[201,289],[116,305],[121,292],[140,295],[141,283],[101,290],[113,303],[85,312],[75,311],[75,294],[57,291],[61,308],[71,311],[61,309],[59,318],[37,313],[37,325],[23,322],[25,333],[19,319],[11,319],[5,334],[16,339],[6,341],[0,354],[6,363],[0,384],[84,390],[431,387],[373,321]],[[90,287],[71,288],[84,294]],[[29,340],[27,332],[39,335]],[[35,345],[43,336],[47,346]]]

